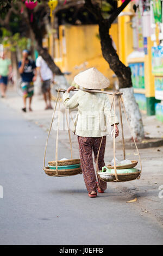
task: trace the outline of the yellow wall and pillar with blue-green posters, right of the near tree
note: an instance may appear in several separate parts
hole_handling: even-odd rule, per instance
[[[143,26],[149,27],[151,24],[149,20],[143,24],[145,13],[139,6],[135,14],[133,4],[134,2],[131,2],[118,17],[119,56],[121,61],[131,68],[135,98],[140,109],[147,115],[153,115],[155,103],[158,102],[155,99],[155,80],[152,72],[154,41],[151,36],[145,35],[146,32],[143,33]]]

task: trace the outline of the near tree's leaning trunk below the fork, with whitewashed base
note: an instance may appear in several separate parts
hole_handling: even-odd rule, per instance
[[[99,35],[101,38],[101,47],[103,57],[109,63],[112,71],[115,72],[120,91],[123,92],[124,105],[130,120],[131,129],[134,132],[135,138],[142,139],[144,137],[142,117],[139,106],[134,97],[133,84],[131,81],[131,70],[129,66],[124,65],[114,47],[112,39],[109,35],[109,25],[106,20],[99,21]]]

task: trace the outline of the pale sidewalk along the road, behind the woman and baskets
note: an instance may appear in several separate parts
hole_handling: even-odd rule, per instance
[[[22,99],[15,92],[8,92],[7,99],[2,100],[12,109],[15,109],[17,115],[23,115],[24,118],[33,122],[34,124],[42,127],[43,130],[48,131],[49,125],[52,119],[52,110],[45,111],[45,103],[41,95],[34,96],[33,99],[33,112],[22,113]],[[54,106],[55,103],[53,103]],[[61,107],[61,111],[64,113],[64,108]],[[146,135],[149,137],[163,137],[163,124],[156,120],[154,116],[147,117],[142,115],[143,124],[145,127]],[[124,135],[126,138],[131,137],[127,128],[127,122],[124,123]],[[73,144],[73,157],[79,156],[77,136],[72,135]],[[121,136],[121,134],[120,134]],[[52,130],[51,140],[56,138],[56,132]],[[52,141],[50,143],[52,143]],[[66,148],[70,148],[67,132],[59,132],[59,141],[62,142]],[[108,142],[111,142],[112,138],[108,138]],[[118,140],[116,140],[118,143]],[[55,150],[55,149],[54,149]],[[122,196],[125,196],[126,200],[137,198],[137,201],[131,203],[133,208],[137,208],[139,215],[146,216],[147,218],[153,218],[154,222],[163,224],[163,198],[159,198],[159,187],[163,186],[163,147],[140,149],[140,155],[142,159],[142,175],[140,180],[131,182],[108,184],[109,186],[115,187]],[[61,159],[64,157],[60,155]],[[116,150],[117,159],[122,159],[123,150]],[[126,157],[130,160],[138,159],[136,149],[126,150]],[[112,148],[106,147],[105,162],[108,163],[113,158]],[[140,168],[140,166],[137,166]],[[162,193],[163,195],[163,193]]]

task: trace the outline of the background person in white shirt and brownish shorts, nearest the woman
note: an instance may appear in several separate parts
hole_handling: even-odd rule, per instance
[[[52,109],[52,105],[51,105],[51,82],[53,81],[52,70],[49,69],[47,63],[41,56],[39,56],[36,59],[36,66],[37,66],[37,69],[39,70],[39,75],[42,82],[41,89],[42,89],[43,98],[46,104],[45,109]],[[48,96],[48,100],[47,100],[47,96]]]

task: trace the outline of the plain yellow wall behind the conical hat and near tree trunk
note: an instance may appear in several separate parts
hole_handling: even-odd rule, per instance
[[[64,32],[63,32],[64,31]],[[113,24],[110,33],[118,48],[118,26]],[[98,25],[60,26],[59,42],[55,41],[55,63],[61,70],[72,72],[70,82],[78,72],[95,66],[112,80],[114,74],[102,56],[98,38]],[[60,50],[60,53],[58,54]]]

